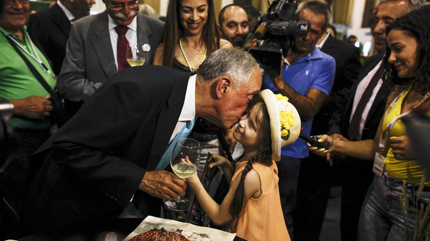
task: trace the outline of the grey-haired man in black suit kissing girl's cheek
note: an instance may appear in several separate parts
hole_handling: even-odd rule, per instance
[[[160,215],[160,199],[186,188],[164,170],[168,144],[197,117],[231,128],[261,83],[259,65],[240,49],[212,53],[197,75],[158,66],[114,75],[36,151],[44,162],[30,187],[25,223],[32,232],[85,225],[131,205],[141,216]]]

